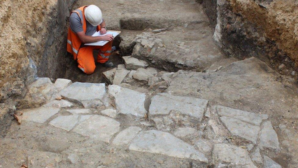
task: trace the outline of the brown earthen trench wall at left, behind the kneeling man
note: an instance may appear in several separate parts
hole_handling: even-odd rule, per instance
[[[37,75],[63,73],[67,20],[75,2],[0,1],[0,135],[10,125],[27,84]]]

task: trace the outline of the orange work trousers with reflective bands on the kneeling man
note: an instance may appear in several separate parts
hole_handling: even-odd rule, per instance
[[[113,41],[110,41],[104,46],[81,47],[78,51],[77,56],[78,68],[81,69],[84,73],[92,74],[96,67],[93,57],[93,50],[99,50],[99,53],[97,55],[97,62],[105,63],[108,61],[111,55],[112,43]]]

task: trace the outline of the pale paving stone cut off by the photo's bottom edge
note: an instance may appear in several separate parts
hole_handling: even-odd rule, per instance
[[[247,167],[256,166],[250,159],[248,151],[241,147],[228,144],[215,144],[212,152],[213,162],[223,167]]]

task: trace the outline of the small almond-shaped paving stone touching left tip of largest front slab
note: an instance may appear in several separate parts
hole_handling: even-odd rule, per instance
[[[140,132],[140,127],[128,127],[127,129],[124,129],[121,131],[113,140],[113,144],[115,145],[122,145],[122,144],[128,144],[133,138]]]

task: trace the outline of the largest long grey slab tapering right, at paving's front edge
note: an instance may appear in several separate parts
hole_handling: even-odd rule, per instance
[[[156,130],[140,132],[133,139],[129,150],[208,162],[208,159],[190,144],[170,133]]]

